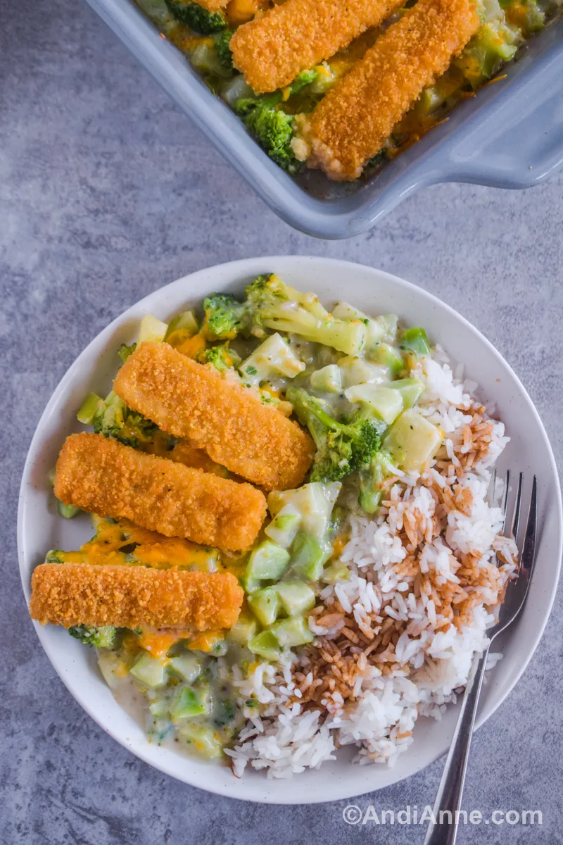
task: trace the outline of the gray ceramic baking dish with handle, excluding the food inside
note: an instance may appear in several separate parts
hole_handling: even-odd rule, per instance
[[[468,182],[529,188],[563,165],[563,20],[532,41],[502,74],[369,180],[293,179],[246,134],[187,59],[131,0],[87,0],[183,112],[282,219],[309,235],[365,232],[427,185]]]

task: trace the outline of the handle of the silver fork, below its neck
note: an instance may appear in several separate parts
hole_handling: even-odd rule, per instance
[[[426,831],[425,845],[454,845],[457,837],[457,810],[463,797],[463,784],[467,770],[469,747],[473,734],[475,713],[479,702],[479,693],[485,674],[485,665],[489,655],[490,643],[482,654],[476,653],[469,669],[468,682],[463,694],[463,701],[452,744],[447,755],[446,766],[441,775],[440,786],[436,793],[433,808],[433,820]],[[448,813],[449,810],[449,813]],[[440,813],[443,821],[440,822]],[[449,815],[451,813],[451,816]],[[448,823],[449,820],[451,824]]]

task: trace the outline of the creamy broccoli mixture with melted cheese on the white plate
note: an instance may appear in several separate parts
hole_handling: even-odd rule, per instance
[[[143,341],[169,343],[285,416],[293,413],[317,447],[305,484],[269,493],[268,519],[248,553],[95,517],[95,537],[82,548],[47,555],[47,562],[229,570],[239,578],[246,598],[231,630],[70,630],[97,646],[118,700],[133,685],[149,739],[220,757],[261,707],[241,697],[234,680],[310,643],[307,617],[318,592],[347,578],[339,553],[349,510],[376,514],[397,466],[420,470],[436,455],[443,434],[417,412],[424,385],[412,374],[429,342],[424,329],[403,327],[392,314],[371,318],[347,303],[328,313],[316,296],[277,275],[259,276],[242,300],[215,294],[202,312],[179,313],[170,323],[147,315],[137,343]],[[121,346],[123,361],[135,346]],[[171,455],[178,446],[113,393],[90,394],[78,420],[153,454]],[[181,455],[189,466],[231,477],[201,450]]]

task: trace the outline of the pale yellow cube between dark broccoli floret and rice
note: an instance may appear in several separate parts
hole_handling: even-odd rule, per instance
[[[425,417],[409,408],[392,424],[383,439],[393,464],[410,472],[421,471],[440,449],[442,434]]]

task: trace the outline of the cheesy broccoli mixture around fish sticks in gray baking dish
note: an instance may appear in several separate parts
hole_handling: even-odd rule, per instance
[[[368,30],[328,61],[299,74],[284,90],[255,95],[233,68],[229,41],[233,30],[269,8],[269,0],[230,0],[225,11],[209,13],[190,0],[135,0],[160,32],[197,68],[216,94],[245,123],[248,131],[279,166],[291,174],[303,164],[292,149],[294,116],[311,112],[318,101],[371,47],[381,31]],[[406,7],[413,5],[408,2]],[[387,144],[366,167],[374,172],[430,128],[459,101],[492,79],[525,41],[542,30],[561,0],[479,0],[482,25],[462,54],[452,60],[436,84],[423,91],[395,126]],[[399,13],[400,14],[400,13]]]

